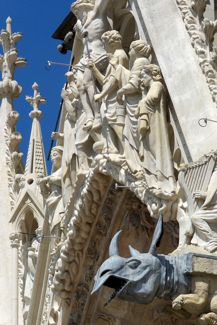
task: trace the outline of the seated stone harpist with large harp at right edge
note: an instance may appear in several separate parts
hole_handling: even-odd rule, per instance
[[[198,247],[209,253],[217,251],[216,155],[212,151],[196,162],[179,167],[179,183],[188,203],[188,213],[179,219],[181,235],[177,250],[193,245],[196,251]]]

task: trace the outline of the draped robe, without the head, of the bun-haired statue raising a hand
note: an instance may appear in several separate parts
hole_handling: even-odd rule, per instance
[[[126,106],[125,125],[123,127],[123,138],[125,146],[125,159],[127,166],[132,173],[142,171],[139,158],[139,141],[137,134],[138,121],[135,118],[135,110],[139,101],[142,99],[141,91],[141,69],[150,62],[146,58],[138,58],[134,61],[131,71],[119,65],[116,69],[116,78],[119,80],[119,88],[126,85],[131,86],[134,90],[132,93],[124,95],[124,105]]]

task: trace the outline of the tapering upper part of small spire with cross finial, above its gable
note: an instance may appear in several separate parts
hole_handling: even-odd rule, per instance
[[[29,116],[33,119],[32,122],[32,132],[30,136],[29,150],[26,160],[25,176],[40,173],[47,175],[45,151],[42,140],[40,118],[42,118],[43,113],[39,110],[39,104],[45,104],[45,98],[41,97],[41,94],[37,92],[39,86],[34,83],[32,89],[34,90],[34,97],[26,96],[26,101],[31,102],[33,110],[29,113]],[[44,176],[43,176],[44,177]]]

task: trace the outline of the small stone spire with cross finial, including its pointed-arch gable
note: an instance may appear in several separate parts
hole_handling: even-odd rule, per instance
[[[41,195],[39,184],[40,179],[47,176],[47,167],[39,121],[43,113],[39,110],[39,104],[45,104],[46,100],[37,92],[38,88],[39,86],[35,82],[32,86],[34,96],[26,96],[26,100],[33,106],[33,110],[29,113],[29,116],[33,119],[32,131],[25,173],[24,175],[19,175],[18,186],[20,191],[11,214],[10,222],[18,223],[18,220],[23,219],[25,212],[30,209],[39,227],[42,227],[45,201]],[[24,228],[22,231],[26,231],[26,229]]]

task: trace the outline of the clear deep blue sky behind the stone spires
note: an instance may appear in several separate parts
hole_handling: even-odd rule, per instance
[[[57,45],[62,41],[53,39],[51,35],[70,12],[72,2],[73,0],[8,0],[1,3],[0,30],[6,29],[6,19],[10,16],[12,33],[22,32],[22,39],[16,46],[18,56],[27,59],[27,66],[17,69],[14,74],[14,80],[23,87],[19,98],[14,99],[14,110],[20,114],[17,132],[22,133],[23,136],[20,151],[24,154],[24,163],[26,162],[32,128],[32,119],[29,117],[32,106],[25,100],[25,96],[33,96],[32,85],[34,82],[39,85],[38,92],[46,98],[46,104],[40,105],[40,110],[44,113],[40,122],[47,159],[51,144],[50,135],[55,128],[61,103],[61,89],[66,82],[65,73],[68,71],[68,67],[53,65],[51,70],[47,71],[45,63],[48,60],[70,63],[71,51],[68,51],[66,55],[58,52]],[[0,53],[3,54],[1,45]],[[52,163],[49,160],[47,162],[48,175],[51,172],[51,167]]]

